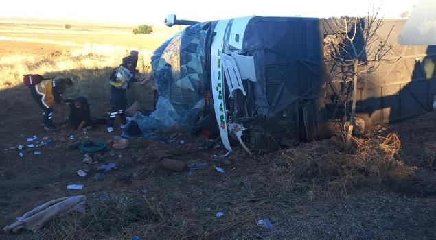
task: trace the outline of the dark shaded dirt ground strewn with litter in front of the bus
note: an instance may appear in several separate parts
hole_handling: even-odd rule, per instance
[[[172,143],[130,139],[127,149],[109,149],[97,165],[117,163],[118,168],[95,180],[97,165],[83,163],[78,149],[67,149],[69,136],[106,141],[120,130],[45,132],[41,112],[33,108],[0,119],[0,226],[56,198],[87,197],[85,215],[68,213],[36,233],[1,232],[0,239],[436,239],[436,112],[380,130],[400,136],[398,158],[415,167],[413,176],[362,179],[346,188],[296,177],[283,160],[289,149],[249,156],[235,145],[233,154],[217,158],[214,154],[225,153],[222,146],[198,150],[207,140],[189,134],[175,136]],[[27,142],[33,135],[38,142],[53,142],[24,147],[21,158],[14,147],[36,144]],[[35,150],[41,154],[34,155]],[[165,154],[190,167],[181,173],[161,169],[158,162]],[[87,176],[76,174],[85,168]],[[68,184],[84,189],[67,190]],[[218,212],[224,215],[216,217]],[[272,229],[258,226],[260,219],[269,219]]]

